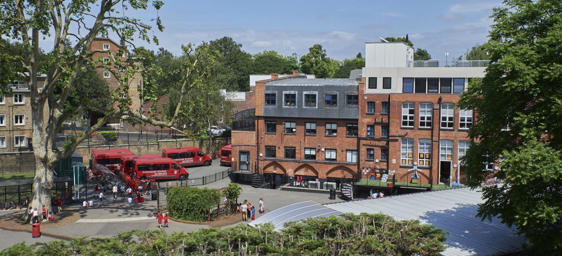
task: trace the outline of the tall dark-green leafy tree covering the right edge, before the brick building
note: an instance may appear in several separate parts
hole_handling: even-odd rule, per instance
[[[536,252],[552,254],[560,249],[562,229],[562,2],[504,4],[494,10],[484,44],[486,75],[472,80],[459,101],[461,109],[478,113],[469,135],[479,141],[466,153],[465,173],[478,187],[488,178],[482,163],[502,157],[495,175],[505,185],[484,189],[480,216],[500,217]]]

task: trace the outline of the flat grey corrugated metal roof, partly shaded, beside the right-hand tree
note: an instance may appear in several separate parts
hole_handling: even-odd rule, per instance
[[[384,213],[396,220],[420,220],[447,232],[443,255],[494,255],[514,252],[527,240],[498,218],[475,217],[482,193],[469,188],[431,191],[353,202],[326,204],[342,213]]]

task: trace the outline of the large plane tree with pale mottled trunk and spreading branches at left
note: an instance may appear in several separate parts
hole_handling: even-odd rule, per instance
[[[146,72],[154,66],[143,66],[143,56],[123,58],[123,52],[112,53],[107,50],[89,51],[96,36],[112,35],[130,45],[125,51],[131,51],[138,41],[157,43],[153,35],[153,27],[162,30],[157,11],[162,1],[149,0],[51,0],[51,1],[19,1],[0,0],[0,33],[2,40],[0,49],[2,56],[2,75],[0,86],[2,93],[11,89],[7,84],[16,79],[24,79],[30,89],[32,109],[32,139],[35,156],[35,178],[31,205],[40,207],[44,204],[51,207],[51,187],[53,182],[53,166],[60,159],[71,156],[78,145],[89,138],[111,118],[122,118],[157,126],[175,129],[176,120],[181,118],[188,104],[187,99],[180,99],[173,115],[165,120],[156,120],[146,112],[131,109],[131,98],[128,95],[129,81],[135,72]],[[153,11],[155,18],[149,22],[135,19],[135,13]],[[150,24],[152,25],[150,25]],[[137,40],[135,42],[135,39]],[[10,53],[10,43],[19,42],[24,50]],[[210,66],[217,53],[208,44],[198,46],[187,44],[183,47],[186,58],[182,63],[182,83],[180,95],[189,90],[201,89],[210,74]],[[40,62],[42,49],[48,53],[47,63]],[[110,63],[93,60],[96,52],[107,52]],[[112,68],[118,66],[118,68]],[[41,68],[43,67],[43,68]],[[112,104],[99,106],[95,100],[81,99],[78,103],[69,100],[69,94],[85,75],[85,70],[93,67],[104,67],[113,72],[120,81],[117,89],[112,90]],[[120,71],[116,71],[120,70]],[[40,71],[44,72],[44,84],[38,83]],[[140,89],[140,88],[139,88]],[[155,98],[154,92],[141,92],[143,99]],[[125,97],[123,97],[125,95]],[[55,147],[55,136],[68,118],[81,113],[84,109],[97,109],[103,117],[95,125],[89,127],[83,135],[71,141],[63,149]],[[48,112],[48,113],[45,113]]]

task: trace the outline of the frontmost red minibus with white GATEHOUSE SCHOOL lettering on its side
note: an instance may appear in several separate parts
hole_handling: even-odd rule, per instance
[[[134,172],[140,180],[187,180],[189,173],[174,159],[166,157],[134,159]]]

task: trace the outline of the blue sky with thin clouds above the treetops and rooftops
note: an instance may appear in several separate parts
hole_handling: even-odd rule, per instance
[[[319,43],[343,60],[365,52],[379,36],[409,34],[414,47],[445,59],[487,40],[492,8],[501,0],[470,1],[165,1],[158,12],[165,26],[160,45],[180,54],[181,44],[230,36],[244,51],[306,54]],[[156,16],[153,10],[140,14]]]

